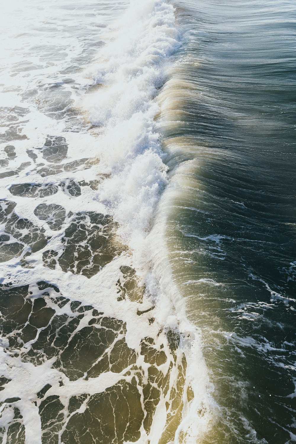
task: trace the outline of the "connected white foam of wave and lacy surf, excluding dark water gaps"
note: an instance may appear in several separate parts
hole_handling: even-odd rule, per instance
[[[32,1],[30,3],[32,16],[35,6]],[[55,48],[58,48],[56,57],[59,59],[59,52],[64,50],[55,28],[55,25],[57,27],[59,25],[59,18],[57,16],[53,19],[50,15],[52,14],[51,9],[57,8],[57,2],[54,1],[51,6],[54,8],[38,9],[35,19],[37,23],[40,22],[41,26],[46,14],[49,14],[47,17],[48,27],[52,31],[50,44],[53,46],[56,44]],[[81,8],[77,1],[73,6]],[[66,9],[67,7],[68,5],[65,5]],[[73,11],[71,16],[74,26],[79,12],[75,12],[75,8]],[[17,16],[17,23],[20,22],[20,16],[21,14]],[[28,13],[26,20],[31,20],[30,17]],[[69,20],[71,22],[71,19]],[[109,21],[110,17],[107,17],[105,24]],[[79,26],[83,23],[82,20]],[[96,22],[92,25],[93,29],[95,29],[95,25]],[[34,20],[30,21],[30,26],[34,28]],[[26,166],[13,178],[1,179],[3,185],[1,198],[16,202],[17,215],[28,218],[38,229],[44,230],[44,236],[51,236],[51,239],[48,240],[46,247],[32,253],[27,258],[29,268],[23,267],[21,263],[25,254],[30,252],[28,246],[24,248],[20,256],[11,258],[4,263],[1,266],[2,282],[12,282],[15,286],[30,285],[32,296],[29,298],[34,300],[40,297],[41,291],[36,282],[42,278],[57,285],[64,297],[75,297],[79,301],[102,310],[106,316],[121,319],[126,323],[126,343],[128,347],[138,353],[137,364],[142,366],[144,373],[147,371],[147,364],[141,355],[140,342],[142,338],[153,337],[156,346],[160,347],[162,338],[165,338],[169,330],[178,333],[180,335],[180,349],[177,364],[170,376],[171,388],[176,387],[178,363],[181,363],[183,353],[186,356],[188,367],[182,395],[184,407],[175,442],[179,442],[178,440],[183,434],[185,436],[184,442],[195,443],[208,430],[213,418],[211,386],[201,353],[200,334],[187,321],[183,300],[172,283],[164,242],[166,215],[161,211],[162,205],[159,205],[160,195],[168,183],[168,179],[160,136],[154,123],[154,117],[158,113],[154,97],[157,95],[158,88],[164,83],[167,67],[172,62],[172,55],[180,45],[178,30],[175,26],[174,8],[160,0],[143,0],[141,3],[132,0],[126,12],[107,31],[104,31],[104,35],[101,31],[101,36],[105,45],[97,54],[95,62],[88,66],[83,73],[76,72],[73,79],[70,79],[72,83],[69,84],[67,83],[69,81],[67,72],[58,75],[57,71],[70,69],[73,59],[79,65],[79,57],[85,50],[77,39],[75,40],[75,51],[71,54],[71,33],[67,36],[67,41],[64,40],[69,55],[66,60],[56,63],[53,67],[47,63],[48,58],[45,58],[44,63],[41,64],[42,56],[40,54],[40,60],[38,57],[36,59],[35,56],[32,56],[28,44],[32,39],[32,33],[28,32],[28,36],[22,37],[25,58],[27,57],[31,64],[40,62],[40,67],[37,68],[40,70],[37,71],[38,75],[32,74],[35,71],[31,66],[30,69],[32,69],[29,70],[28,77],[23,78],[22,71],[17,71],[17,81],[13,81],[15,82],[13,83],[11,75],[13,71],[9,64],[7,65],[5,79],[7,84],[10,82],[8,84],[9,96],[6,95],[7,104],[9,106],[26,106],[28,109],[26,120],[22,119],[20,122],[20,134],[26,135],[27,139],[13,141],[16,158],[11,161],[7,170],[15,170],[22,163],[28,161],[28,156],[25,154],[27,150],[35,150],[37,160],[32,161],[31,165]],[[43,46],[46,42],[46,36],[41,36],[40,41],[38,40],[38,43]],[[57,44],[57,42],[59,43]],[[55,53],[52,48],[51,51],[53,54]],[[51,56],[48,57],[50,59]],[[42,82],[48,82],[47,86],[50,91],[61,87],[60,91],[62,92],[57,96],[54,96],[53,92],[46,95],[47,87],[42,89]],[[74,86],[70,87],[71,84]],[[32,99],[35,93],[32,93],[28,100],[21,99],[18,91],[23,93],[30,88],[32,91],[34,88],[36,91],[41,88],[43,92],[37,96],[37,99],[34,99],[35,101]],[[62,115],[62,111],[56,111],[59,108],[56,105],[59,98],[68,93],[65,107],[71,108],[73,100],[75,100],[76,107],[83,109],[86,119],[89,119],[91,125],[95,126],[93,133],[85,131],[83,126],[79,127],[81,125],[79,121],[73,120],[74,123],[71,123],[71,114],[69,118],[67,114]],[[51,106],[51,100],[54,99],[57,102],[55,106]],[[77,132],[77,129],[80,131]],[[47,162],[42,158],[42,152],[37,148],[43,147],[48,135],[65,137],[68,145],[67,162],[95,157],[99,158],[99,164],[94,162],[90,169],[78,168],[75,172],[70,171],[67,174],[62,168],[57,174],[43,177],[38,168],[41,164],[45,164],[47,167]],[[6,144],[5,141],[3,147]],[[62,166],[66,165],[66,159],[62,159],[60,163]],[[60,187],[63,180],[75,179],[75,181],[87,182],[95,180],[99,174],[104,174],[106,177],[100,184],[99,190],[91,189],[88,186],[82,187],[81,195],[74,197]],[[9,191],[12,183],[50,184],[56,186],[58,190],[55,194],[47,196],[46,199],[12,196]],[[165,199],[169,195],[170,193],[166,194]],[[114,222],[118,223],[117,235],[127,246],[128,253],[119,254],[90,279],[79,274],[72,274],[70,271],[65,273],[59,263],[57,263],[55,270],[45,268],[42,254],[48,249],[61,254],[63,233],[71,222],[71,216],[66,217],[60,231],[51,230],[34,213],[35,208],[44,202],[47,205],[62,204],[66,214],[87,211],[110,214]],[[151,231],[155,220],[156,225]],[[25,233],[23,232],[23,234]],[[215,239],[214,241],[217,242]],[[137,270],[141,283],[146,285],[146,294],[141,309],[151,309],[151,304],[155,305],[153,311],[155,322],[152,325],[149,321],[149,314],[138,316],[136,304],[128,300],[118,302],[116,282],[120,278],[121,266],[130,266]],[[52,301],[48,297],[47,305],[51,306],[51,304]],[[56,306],[55,310],[57,310]],[[60,309],[59,314],[63,313],[70,313],[68,305]],[[86,316],[85,321],[83,320],[78,328],[81,329],[87,325],[85,323],[88,320]],[[21,361],[20,358],[16,360],[12,355],[4,353],[4,349],[7,347],[5,341],[1,345],[1,369],[4,376],[11,379],[12,383],[8,383],[0,392],[0,400],[5,401],[5,399],[13,397],[21,398],[13,405],[17,405],[24,417],[26,444],[41,442],[40,417],[38,408],[32,403],[32,400],[46,383],[51,384],[48,393],[58,393],[60,399],[67,405],[70,396],[103,392],[107,387],[115,385],[119,379],[126,381],[132,379],[132,376],[125,374],[125,369],[125,372],[122,373],[109,371],[88,381],[82,381],[81,378],[77,381],[70,381],[66,375],[53,368],[53,360],[48,360],[36,367],[31,363]],[[30,344],[28,343],[26,346],[29,347]],[[164,351],[167,356],[170,355],[167,343]],[[160,366],[163,374],[167,372],[169,364],[168,360]],[[60,381],[63,385],[60,384]],[[189,388],[194,392],[194,397],[191,400],[188,400],[186,395]],[[138,440],[140,444],[147,443],[148,440],[151,443],[156,443],[161,439],[166,425],[166,402],[170,400],[169,398],[170,392],[161,396],[150,433],[147,435],[145,430],[141,429],[141,437]],[[85,408],[84,403],[81,412]],[[202,413],[197,415],[198,411]],[[11,415],[12,409],[5,407],[2,421],[8,424],[12,420]],[[63,430],[60,435],[62,432]],[[6,436],[4,436],[5,439]]]

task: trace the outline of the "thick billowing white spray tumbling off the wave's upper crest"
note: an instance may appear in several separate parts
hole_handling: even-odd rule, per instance
[[[124,241],[139,250],[166,184],[153,99],[179,46],[174,10],[162,1],[133,1],[110,38],[87,72],[101,86],[83,97],[83,107],[100,126],[100,167],[112,174],[99,198],[112,206]]]

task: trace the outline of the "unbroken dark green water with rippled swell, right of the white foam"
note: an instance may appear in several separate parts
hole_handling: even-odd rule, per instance
[[[296,4],[175,7],[184,44],[159,98],[171,169],[163,205],[174,279],[219,405],[205,442],[292,443]]]

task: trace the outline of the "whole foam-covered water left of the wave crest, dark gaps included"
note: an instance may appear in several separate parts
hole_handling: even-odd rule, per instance
[[[172,280],[159,0],[3,10],[0,441],[201,440],[215,403]]]

